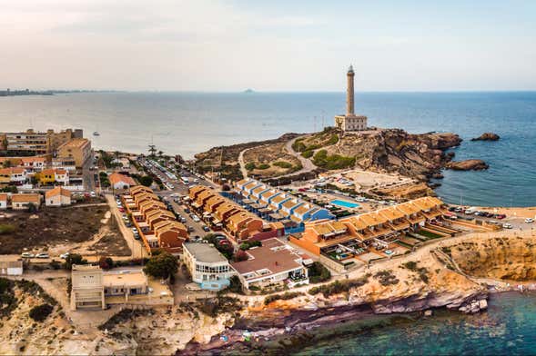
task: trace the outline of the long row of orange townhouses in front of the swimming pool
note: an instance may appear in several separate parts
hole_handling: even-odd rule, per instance
[[[444,208],[445,204],[438,198],[419,198],[339,221],[306,223],[305,231],[290,235],[289,242],[315,255],[329,254],[335,249],[350,252],[356,247],[366,249],[372,242],[388,247],[401,234],[415,231],[442,216],[446,213]]]

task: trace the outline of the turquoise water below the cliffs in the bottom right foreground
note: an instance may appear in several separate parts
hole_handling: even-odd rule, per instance
[[[294,352],[293,352],[294,353]],[[295,352],[299,355],[534,355],[536,294],[494,295],[488,312],[432,317],[379,317],[356,323],[342,336],[329,337]]]

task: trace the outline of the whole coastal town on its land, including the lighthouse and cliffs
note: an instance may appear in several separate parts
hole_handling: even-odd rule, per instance
[[[347,77],[347,113],[334,127],[268,143],[275,163],[253,154],[267,143],[229,148],[232,173],[225,148],[207,170],[206,155],[185,161],[154,145],[96,150],[80,129],[0,133],[0,272],[11,301],[3,315],[17,311],[23,322],[16,301],[25,299],[29,318],[49,322],[35,334],[52,338],[46,353],[196,353],[292,335],[307,329],[298,322],[305,311],[470,313],[487,308],[489,288],[523,288],[508,268],[483,282],[486,271],[471,276],[476,267],[463,258],[480,255],[471,246],[482,239],[533,241],[536,211],[448,204],[426,183],[449,168],[455,136],[427,137],[436,142],[428,173],[366,169],[333,153],[389,134],[354,114],[351,66]],[[176,327],[150,321],[166,314]],[[126,331],[137,322],[157,336]],[[197,327],[185,332],[187,322]],[[37,352],[24,327],[2,332],[2,353]]]

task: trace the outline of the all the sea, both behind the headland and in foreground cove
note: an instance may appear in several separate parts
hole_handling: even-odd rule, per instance
[[[96,148],[147,153],[148,144],[191,158],[210,147],[310,133],[344,112],[344,93],[84,93],[0,97],[0,132],[82,128]],[[444,172],[450,203],[536,205],[536,92],[358,93],[356,111],[378,127],[452,132],[457,160],[482,172]],[[93,136],[98,132],[99,136]],[[484,132],[498,142],[471,142]],[[297,351],[325,354],[536,354],[536,298],[506,293],[488,312],[436,311],[430,318],[379,317]]]

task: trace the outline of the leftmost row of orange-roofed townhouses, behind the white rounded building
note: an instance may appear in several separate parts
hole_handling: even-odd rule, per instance
[[[174,254],[182,253],[183,243],[188,239],[187,228],[177,222],[175,214],[167,210],[166,204],[158,199],[152,189],[137,185],[131,187],[121,199],[126,213],[132,216],[147,252],[162,249]]]

